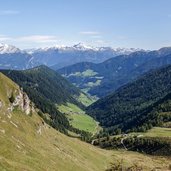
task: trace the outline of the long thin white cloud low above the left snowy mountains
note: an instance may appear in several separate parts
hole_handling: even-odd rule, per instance
[[[34,43],[55,43],[56,41],[58,41],[56,36],[51,36],[51,35],[30,35],[30,36],[19,37],[16,40],[22,42],[34,42]]]

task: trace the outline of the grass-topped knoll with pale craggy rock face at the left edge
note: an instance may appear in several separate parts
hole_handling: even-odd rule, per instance
[[[33,104],[23,89],[0,73],[0,111],[11,114],[16,107],[26,115],[34,112]]]

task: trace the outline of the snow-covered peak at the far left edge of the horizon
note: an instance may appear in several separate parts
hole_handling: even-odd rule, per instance
[[[18,53],[18,52],[20,52],[20,49],[16,48],[15,46],[0,43],[0,54]]]

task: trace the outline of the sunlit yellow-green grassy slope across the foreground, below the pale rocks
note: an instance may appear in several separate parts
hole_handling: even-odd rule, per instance
[[[14,113],[11,120],[18,128],[9,123],[7,116],[0,114],[0,117],[0,129],[5,130],[5,134],[0,132],[0,170],[102,171],[109,167],[109,162],[117,160],[126,165],[136,163],[144,170],[166,169],[169,165],[170,160],[163,157],[98,149],[43,126],[36,114]],[[42,126],[41,135],[37,133],[38,124]]]

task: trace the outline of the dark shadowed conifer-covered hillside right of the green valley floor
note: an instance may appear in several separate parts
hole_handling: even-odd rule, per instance
[[[111,134],[117,129],[145,131],[171,120],[171,66],[149,72],[87,111]]]

